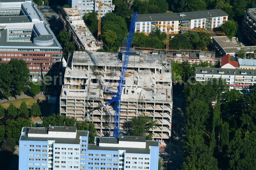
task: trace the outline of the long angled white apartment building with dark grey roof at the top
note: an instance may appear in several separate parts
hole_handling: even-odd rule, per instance
[[[192,11],[186,13],[165,13],[165,14],[139,14],[136,23],[136,32],[150,34],[159,28],[162,32],[167,32],[165,27],[158,27],[152,24],[170,25],[173,30],[169,33],[177,34],[180,30],[193,28],[212,29],[221,26],[228,20],[228,14],[221,9],[211,9],[203,11]]]

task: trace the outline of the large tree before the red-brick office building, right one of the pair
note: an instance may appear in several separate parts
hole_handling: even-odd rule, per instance
[[[12,74],[12,85],[13,85],[13,94],[20,95],[21,92],[27,90],[27,84],[29,82],[29,69],[27,63],[24,60],[11,59],[7,64],[12,68],[10,73]]]

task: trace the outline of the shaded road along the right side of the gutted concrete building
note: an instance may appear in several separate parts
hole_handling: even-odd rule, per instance
[[[185,118],[183,86],[173,86],[173,113],[172,113],[172,136],[166,146],[166,152],[160,154],[165,170],[181,169],[183,163],[185,144]]]

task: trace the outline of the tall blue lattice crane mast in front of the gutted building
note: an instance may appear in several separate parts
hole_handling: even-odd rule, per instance
[[[119,138],[121,94],[123,91],[124,80],[125,80],[125,76],[126,76],[130,53],[131,53],[131,47],[132,47],[132,42],[133,42],[133,37],[134,37],[135,23],[137,21],[137,16],[138,16],[138,13],[133,13],[132,21],[131,21],[130,29],[129,29],[129,34],[127,35],[127,38],[125,39],[126,41],[124,42],[125,55],[122,58],[123,65],[122,65],[119,84],[117,87],[117,92],[113,92],[113,91],[109,90],[112,81],[109,82],[109,85],[106,89],[106,91],[110,92],[111,94],[116,95],[111,100],[109,100],[108,102],[105,103],[105,105],[108,105],[112,102],[115,102],[115,105],[114,105],[114,130],[113,130],[113,137],[115,137],[115,138]],[[118,63],[119,63],[119,61],[117,62],[115,68],[118,67]]]

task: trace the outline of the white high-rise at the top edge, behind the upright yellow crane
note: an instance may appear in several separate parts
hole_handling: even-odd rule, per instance
[[[112,0],[101,0],[101,2],[104,4],[112,4]],[[68,4],[71,8],[77,8],[81,17],[92,11],[95,11],[96,13],[99,12],[99,4],[92,0],[68,0]],[[111,7],[103,5],[101,7],[101,17],[105,16],[108,12],[112,12]]]

